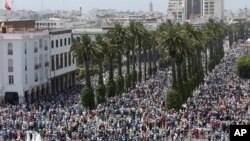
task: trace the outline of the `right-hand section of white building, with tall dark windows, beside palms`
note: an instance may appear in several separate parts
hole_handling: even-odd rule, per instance
[[[51,90],[55,93],[75,83],[76,59],[70,52],[71,30],[57,29],[50,31],[49,34]]]

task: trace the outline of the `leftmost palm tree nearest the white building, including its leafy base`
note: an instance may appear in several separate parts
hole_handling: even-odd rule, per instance
[[[71,46],[71,51],[73,55],[78,58],[82,59],[84,62],[85,69],[86,69],[86,84],[85,87],[81,91],[81,103],[83,106],[86,106],[90,109],[95,108],[95,98],[94,92],[90,82],[90,61],[94,54],[93,43],[91,42],[91,38],[84,34],[81,36],[80,40],[73,40],[73,44]]]

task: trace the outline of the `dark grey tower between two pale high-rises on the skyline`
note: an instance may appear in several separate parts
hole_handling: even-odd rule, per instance
[[[202,14],[202,0],[185,1],[186,19],[200,17]]]

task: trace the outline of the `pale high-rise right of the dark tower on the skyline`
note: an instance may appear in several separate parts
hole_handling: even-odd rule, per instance
[[[203,0],[202,14],[207,18],[224,18],[224,0]]]

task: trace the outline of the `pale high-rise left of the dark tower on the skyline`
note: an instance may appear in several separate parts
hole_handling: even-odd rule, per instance
[[[168,15],[173,20],[184,20],[185,19],[185,1],[184,0],[169,0],[168,3]]]

